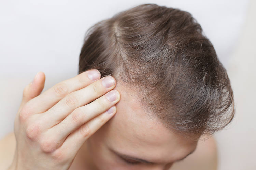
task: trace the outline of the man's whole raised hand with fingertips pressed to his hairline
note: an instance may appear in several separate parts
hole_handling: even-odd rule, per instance
[[[98,72],[96,80],[87,76],[92,71]],[[113,85],[105,87],[109,78]],[[120,93],[112,90],[116,80],[112,76],[100,79],[96,69],[40,94],[44,82],[45,75],[39,72],[23,90],[14,122],[17,147],[9,169],[69,169],[83,143],[116,113],[115,104],[120,100]],[[109,101],[114,98],[112,92],[117,97]]]

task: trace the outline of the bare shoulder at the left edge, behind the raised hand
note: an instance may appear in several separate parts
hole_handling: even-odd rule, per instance
[[[12,163],[16,147],[14,133],[9,133],[0,140],[0,169],[7,169]]]

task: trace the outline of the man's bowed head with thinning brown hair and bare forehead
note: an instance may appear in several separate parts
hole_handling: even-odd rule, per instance
[[[116,79],[121,99],[116,115],[90,140],[104,132],[113,140],[98,140],[119,141],[113,145],[126,154],[175,161],[193,150],[199,136],[234,117],[226,70],[188,12],[144,4],[96,23],[87,32],[79,73],[93,68]]]

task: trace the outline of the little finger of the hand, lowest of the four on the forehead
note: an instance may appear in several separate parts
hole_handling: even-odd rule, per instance
[[[116,106],[113,106],[113,110],[114,111],[111,114],[104,112],[103,114],[98,115],[94,119],[83,124],[79,129],[72,132],[54,154],[58,155],[59,153],[62,153],[72,156],[75,155],[83,143],[115,115]],[[73,148],[70,149],[70,146],[73,146]]]

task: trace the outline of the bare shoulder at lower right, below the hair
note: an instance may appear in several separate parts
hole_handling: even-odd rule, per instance
[[[217,170],[217,166],[217,145],[214,136],[211,136],[207,140],[199,140],[195,152],[183,161],[174,163],[170,170]]]

